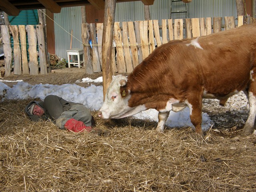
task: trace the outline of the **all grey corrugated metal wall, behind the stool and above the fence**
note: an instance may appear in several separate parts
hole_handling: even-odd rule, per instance
[[[171,0],[155,0],[150,6],[152,20],[170,18]],[[172,3],[172,10],[184,10],[183,2]],[[192,0],[188,3],[188,18],[200,17],[224,17],[237,16],[236,0]],[[186,18],[186,13],[172,14],[172,19]],[[115,21],[138,21],[144,20],[144,7],[141,1],[122,2],[116,4]],[[62,8],[59,14],[54,14],[54,21],[68,32],[73,29],[73,35],[81,40],[81,10],[80,7]],[[54,24],[56,54],[61,58],[67,58],[66,50],[70,49],[70,34],[67,34],[57,24]],[[73,38],[72,48],[82,48],[82,43]]]

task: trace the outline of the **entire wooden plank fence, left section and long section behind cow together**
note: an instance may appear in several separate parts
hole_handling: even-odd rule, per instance
[[[251,19],[252,20],[252,19]],[[193,38],[234,28],[235,18],[191,18],[120,22],[114,24],[112,68],[114,72],[130,73],[157,46],[171,40]],[[213,23],[213,24],[212,24]],[[243,16],[238,17],[238,26]],[[171,26],[171,27],[170,27]],[[1,26],[5,56],[5,76],[14,74],[47,74],[44,32],[42,25]],[[160,36],[162,30],[162,36]],[[82,24],[82,41],[87,72],[102,71],[103,24]],[[13,37],[13,50],[11,46]],[[92,48],[88,40],[92,40]],[[28,42],[28,43],[26,43]],[[26,46],[28,44],[28,53]],[[38,57],[39,61],[38,62]]]

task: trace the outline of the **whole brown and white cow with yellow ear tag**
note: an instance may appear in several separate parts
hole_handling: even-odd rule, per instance
[[[127,78],[113,78],[98,115],[117,119],[154,108],[157,130],[163,132],[170,111],[188,106],[196,133],[203,135],[202,98],[217,98],[224,105],[240,91],[250,104],[243,130],[250,134],[256,116],[255,22],[156,48]]]

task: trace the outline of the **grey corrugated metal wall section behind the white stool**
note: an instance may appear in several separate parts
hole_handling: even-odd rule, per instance
[[[66,51],[70,50],[70,34],[73,30],[72,48],[82,49],[81,38],[81,7],[62,8],[61,12],[54,14],[55,52],[60,58],[68,58]],[[66,32],[66,31],[67,32]],[[70,34],[68,34],[70,33]],[[76,39],[77,38],[77,39]]]

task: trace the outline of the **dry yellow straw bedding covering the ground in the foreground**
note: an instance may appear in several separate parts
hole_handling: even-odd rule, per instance
[[[240,128],[156,132],[155,122],[104,121],[90,133],[31,122],[28,100],[0,103],[1,192],[256,191],[256,136]]]

